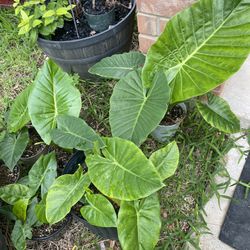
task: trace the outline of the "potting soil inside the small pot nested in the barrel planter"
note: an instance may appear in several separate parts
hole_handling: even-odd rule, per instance
[[[95,6],[92,5],[92,0],[86,0],[83,4],[84,11],[88,14],[92,15],[101,15],[106,12],[109,12],[114,4],[113,1],[106,1],[106,0],[96,0]]]

